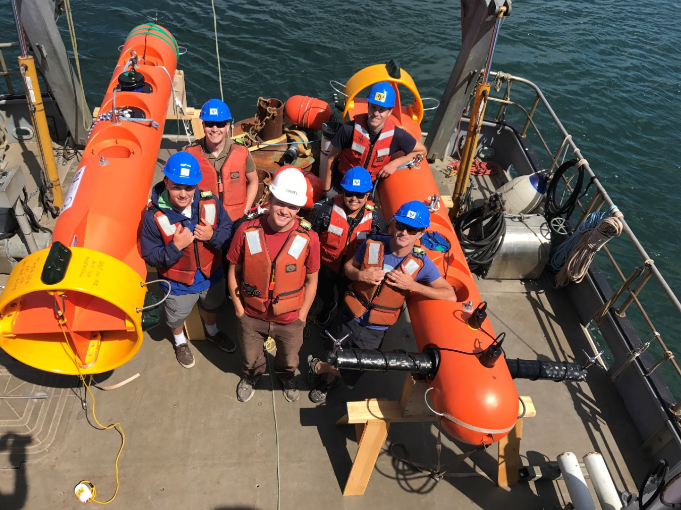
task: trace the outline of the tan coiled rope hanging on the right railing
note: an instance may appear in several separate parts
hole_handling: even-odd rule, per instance
[[[615,209],[612,216],[604,218],[596,228],[582,235],[563,269],[560,269],[556,276],[556,287],[566,286],[570,282],[578,284],[584,279],[596,252],[603,248],[607,241],[622,233],[620,218],[622,213]]]

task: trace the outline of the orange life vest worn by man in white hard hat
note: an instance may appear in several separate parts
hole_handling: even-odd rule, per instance
[[[279,254],[272,260],[260,219],[249,220],[244,230],[241,295],[249,307],[264,312],[272,303],[274,315],[300,310],[310,251],[311,224],[296,218]]]

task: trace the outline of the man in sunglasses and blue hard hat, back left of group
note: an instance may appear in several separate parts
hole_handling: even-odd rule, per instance
[[[249,150],[229,138],[232,113],[219,99],[210,99],[201,109],[199,118],[204,137],[183,150],[192,154],[201,165],[202,190],[211,190],[220,199],[225,211],[236,222],[253,206],[257,194],[257,173]]]

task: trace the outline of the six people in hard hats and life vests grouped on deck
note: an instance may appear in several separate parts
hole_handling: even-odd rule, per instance
[[[315,322],[330,337],[345,337],[343,347],[360,349],[381,346],[411,292],[456,300],[417,245],[430,226],[428,207],[407,202],[386,223],[369,200],[377,179],[425,155],[426,148],[390,118],[396,100],[390,84],[375,84],[367,100],[368,113],[344,124],[332,140],[325,199],[309,221],[298,216],[307,182],[294,167],[274,176],[268,211],[249,218],[258,185],[255,163],[245,146],[229,138],[232,115],[219,99],[202,107],[205,136],[168,158],[163,180],[152,190],[142,257],[170,282],[163,306],[176,358],[185,368],[195,363],[183,324],[196,303],[206,339],[236,351],[234,339],[217,326],[217,311],[229,295],[242,353],[238,401],[251,399],[266,371],[268,337],[276,344],[274,372],[283,395],[298,400],[295,373],[316,296],[321,305]],[[325,342],[332,347],[332,339]],[[307,358],[314,403],[325,401],[340,381],[353,386],[361,374],[338,371],[319,356]]]

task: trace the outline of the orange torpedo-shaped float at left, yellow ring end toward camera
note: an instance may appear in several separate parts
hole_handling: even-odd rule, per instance
[[[150,296],[139,228],[177,58],[177,43],[163,27],[147,23],[129,33],[52,248],[22,259],[7,280],[0,295],[0,347],[31,367],[102,373],[140,349],[143,322],[149,326],[142,307]],[[113,186],[120,192],[112,195]]]

